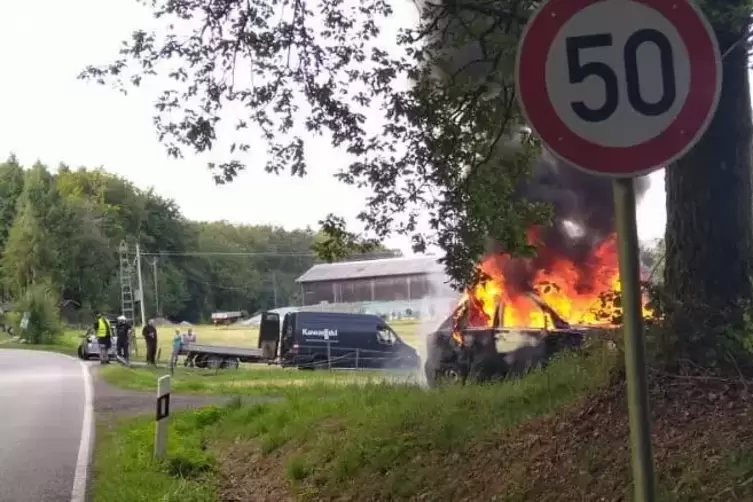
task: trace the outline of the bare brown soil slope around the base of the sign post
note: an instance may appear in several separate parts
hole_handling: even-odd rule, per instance
[[[747,385],[703,377],[652,379],[652,432],[662,500],[753,500],[753,400]],[[632,498],[625,386],[568,413],[478,445],[466,469],[480,499]],[[496,466],[496,467],[492,467]]]

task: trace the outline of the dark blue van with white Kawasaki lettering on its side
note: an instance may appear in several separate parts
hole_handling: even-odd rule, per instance
[[[279,349],[283,366],[413,369],[420,365],[418,352],[375,315],[290,312],[280,331],[279,316],[266,314],[259,346],[274,344],[269,352]]]

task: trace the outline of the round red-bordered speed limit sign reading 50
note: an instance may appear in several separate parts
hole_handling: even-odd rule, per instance
[[[629,177],[683,155],[721,90],[711,27],[687,0],[550,0],[518,48],[523,114],[556,156]]]

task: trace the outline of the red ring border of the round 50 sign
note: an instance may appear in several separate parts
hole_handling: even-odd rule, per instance
[[[630,147],[606,147],[572,132],[557,115],[546,88],[546,61],[554,38],[573,15],[594,0],[550,0],[528,22],[516,61],[516,84],[528,125],[561,159],[592,174],[647,174],[682,156],[705,132],[719,101],[721,60],[716,37],[687,0],[631,0],[672,23],[690,56],[690,87],[682,109],[658,136]],[[555,16],[556,14],[556,16]],[[712,70],[713,69],[713,70]]]

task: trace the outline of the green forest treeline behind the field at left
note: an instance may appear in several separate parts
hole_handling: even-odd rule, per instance
[[[132,247],[138,242],[146,255],[150,316],[159,308],[161,315],[197,322],[217,310],[253,313],[295,305],[295,279],[314,263],[312,245],[320,238],[311,229],[189,221],[174,201],[102,169],[60,165],[53,172],[41,163],[24,168],[14,156],[0,164],[6,302],[45,284],[82,317],[95,309],[118,312],[118,248],[125,240]]]

